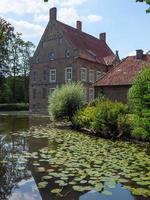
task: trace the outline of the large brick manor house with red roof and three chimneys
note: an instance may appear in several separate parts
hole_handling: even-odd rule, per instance
[[[119,62],[106,43],[106,33],[99,38],[57,20],[57,9],[50,9],[49,22],[31,58],[29,105],[33,113],[47,113],[48,96],[68,81],[81,81],[87,101],[94,98],[93,83]]]

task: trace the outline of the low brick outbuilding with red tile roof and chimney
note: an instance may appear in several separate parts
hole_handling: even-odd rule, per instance
[[[145,66],[150,67],[150,54],[136,50],[135,56],[128,56],[112,68],[102,79],[95,82],[95,96],[104,95],[112,101],[127,102],[129,88],[135,76]]]

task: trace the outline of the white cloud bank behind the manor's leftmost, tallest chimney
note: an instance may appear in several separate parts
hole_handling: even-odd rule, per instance
[[[58,7],[58,20],[69,25],[75,25],[77,20],[89,23],[101,21],[102,17],[99,15],[79,14],[77,6],[83,5],[86,1],[89,0],[49,0],[47,3],[43,0],[12,0],[11,2],[0,0],[0,16],[5,16],[4,18],[15,27],[15,31],[23,34],[23,38],[31,41],[39,40],[49,20],[49,9],[54,6]]]

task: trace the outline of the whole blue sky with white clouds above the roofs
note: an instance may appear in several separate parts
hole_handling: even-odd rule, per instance
[[[58,20],[95,37],[106,32],[107,44],[121,58],[136,49],[150,50],[150,14],[135,0],[0,0],[0,16],[9,21],[24,40],[38,44],[49,20],[49,9],[57,7]]]

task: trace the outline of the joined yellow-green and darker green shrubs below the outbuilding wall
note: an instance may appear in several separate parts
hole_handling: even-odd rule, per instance
[[[121,137],[130,133],[126,113],[126,105],[101,100],[95,106],[87,106],[77,111],[73,124],[77,128],[90,129],[101,136]]]

